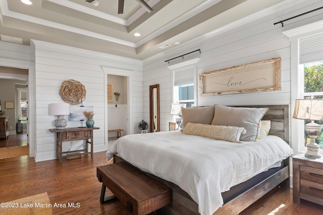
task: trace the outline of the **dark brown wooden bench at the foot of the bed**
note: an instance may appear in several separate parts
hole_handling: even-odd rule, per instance
[[[102,182],[100,202],[117,197],[133,214],[153,212],[171,202],[171,188],[149,177],[124,162],[96,168],[96,176]],[[105,188],[113,196],[105,196]]]

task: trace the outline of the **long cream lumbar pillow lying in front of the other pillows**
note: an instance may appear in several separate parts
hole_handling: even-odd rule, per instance
[[[244,128],[223,126],[223,125],[206,125],[188,122],[183,129],[183,133],[204,136],[212,139],[222,139],[230,142],[239,142],[241,133],[245,133]]]

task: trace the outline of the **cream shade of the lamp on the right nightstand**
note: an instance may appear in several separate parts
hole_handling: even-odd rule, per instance
[[[323,120],[323,100],[296,99],[293,118],[304,120]]]

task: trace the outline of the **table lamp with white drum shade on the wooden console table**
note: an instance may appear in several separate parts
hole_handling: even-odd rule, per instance
[[[67,120],[64,115],[70,114],[70,105],[67,103],[50,104],[49,108],[50,115],[57,115],[57,119],[54,121],[56,129],[65,129]]]

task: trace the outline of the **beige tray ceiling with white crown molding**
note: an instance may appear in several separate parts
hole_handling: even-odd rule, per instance
[[[22,38],[145,59],[170,49],[175,42],[198,38],[218,29],[252,21],[282,9],[291,0],[145,0],[147,13],[136,0],[0,0],[0,33]],[[134,33],[141,36],[135,37]],[[7,37],[8,38],[8,37]],[[5,37],[2,37],[5,40]],[[16,39],[19,42],[19,39]],[[166,49],[158,48],[169,44]]]

